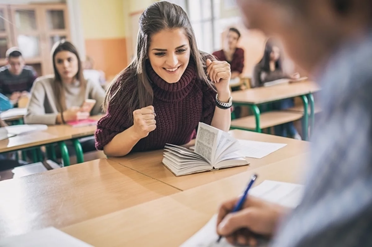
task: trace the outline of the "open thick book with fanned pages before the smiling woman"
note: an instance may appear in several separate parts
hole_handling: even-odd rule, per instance
[[[237,139],[227,132],[199,123],[195,151],[167,144],[163,164],[176,176],[247,165],[239,150]]]

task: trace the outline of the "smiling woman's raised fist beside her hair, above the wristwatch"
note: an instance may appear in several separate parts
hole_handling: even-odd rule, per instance
[[[215,84],[218,93],[230,93],[230,64],[226,61],[211,61],[207,59],[207,76]]]

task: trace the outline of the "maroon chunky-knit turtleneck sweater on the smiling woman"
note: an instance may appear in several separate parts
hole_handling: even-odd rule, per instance
[[[141,139],[132,151],[161,149],[166,143],[186,144],[195,138],[199,122],[211,124],[216,106],[216,93],[205,81],[196,78],[195,64],[191,60],[177,83],[170,84],[164,81],[155,73],[150,63],[146,64],[146,69],[154,90],[156,129]],[[115,135],[133,125],[127,112],[128,102],[136,83],[133,81],[127,89],[117,95],[116,99],[120,102],[109,105],[106,116],[98,121],[95,133],[98,150],[103,150]]]

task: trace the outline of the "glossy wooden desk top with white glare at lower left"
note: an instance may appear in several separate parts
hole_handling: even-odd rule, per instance
[[[179,192],[106,159],[0,182],[0,238],[65,227]]]

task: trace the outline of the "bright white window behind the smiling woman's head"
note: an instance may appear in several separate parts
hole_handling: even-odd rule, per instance
[[[221,17],[221,0],[173,0],[188,14],[201,51],[222,49],[221,33],[237,23],[239,17]]]

